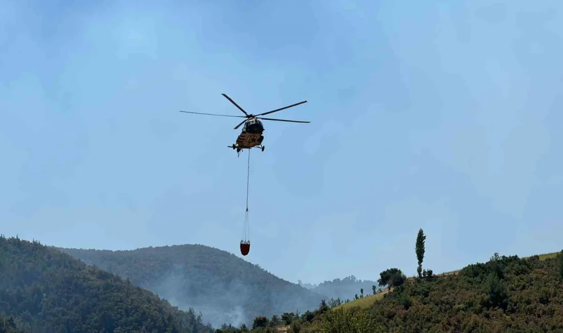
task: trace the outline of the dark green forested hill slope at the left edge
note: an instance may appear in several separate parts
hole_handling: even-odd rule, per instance
[[[193,310],[38,242],[0,236],[0,272],[6,329],[13,317],[29,333],[212,332]]]

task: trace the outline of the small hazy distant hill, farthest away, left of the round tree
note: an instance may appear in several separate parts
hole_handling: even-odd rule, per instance
[[[364,295],[373,294],[373,286],[377,287],[376,281],[371,280],[359,280],[355,276],[347,276],[343,279],[333,279],[332,281],[324,281],[319,283],[319,285],[311,285],[310,283],[303,284],[299,281],[299,285],[306,287],[311,291],[318,292],[321,295],[326,295],[328,298],[341,299],[341,300],[353,300],[354,296],[360,295],[361,289],[364,289]]]

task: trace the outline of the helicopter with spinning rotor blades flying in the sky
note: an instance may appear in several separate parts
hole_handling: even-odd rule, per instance
[[[235,118],[247,118],[239,123],[239,125],[235,126],[235,130],[239,128],[241,125],[244,124],[242,131],[240,132],[239,136],[236,138],[236,142],[233,145],[227,146],[227,148],[236,149],[236,153],[240,156],[240,151],[243,149],[252,149],[253,147],[258,147],[264,151],[265,146],[262,145],[262,141],[264,140],[263,131],[264,126],[260,119],[262,120],[272,120],[272,121],[284,121],[284,122],[294,122],[294,123],[310,123],[310,121],[298,121],[298,120],[287,120],[287,119],[276,119],[276,118],[263,118],[260,116],[265,116],[266,114],[278,112],[284,109],[292,108],[293,106],[297,106],[303,103],[307,103],[307,101],[301,101],[299,103],[295,103],[292,105],[284,106],[283,108],[271,110],[268,112],[260,113],[260,114],[248,114],[243,108],[241,108],[238,104],[235,103],[231,97],[227,96],[226,94],[221,94],[225,96],[231,103],[233,103],[239,110],[244,113],[244,116],[231,116],[227,114],[215,114],[215,113],[200,113],[200,112],[190,112],[190,111],[180,111],[185,113],[193,113],[193,114],[207,114],[208,116],[221,116],[221,117],[235,117]]]

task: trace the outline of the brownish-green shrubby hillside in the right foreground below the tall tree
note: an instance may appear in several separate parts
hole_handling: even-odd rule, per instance
[[[563,333],[563,251],[495,254],[457,274],[409,278],[388,292],[289,315],[256,318],[251,332]]]

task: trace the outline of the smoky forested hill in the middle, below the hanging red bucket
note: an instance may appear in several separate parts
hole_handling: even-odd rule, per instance
[[[205,322],[252,323],[257,316],[315,308],[324,296],[285,281],[226,251],[203,245],[129,251],[61,249],[180,308],[202,312]]]

